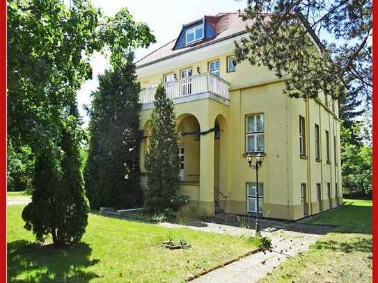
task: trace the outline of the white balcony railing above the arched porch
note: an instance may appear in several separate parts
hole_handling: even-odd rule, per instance
[[[230,84],[211,73],[189,76],[169,83],[164,83],[166,95],[170,99],[180,99],[189,95],[200,95],[210,93],[223,99],[229,100],[228,86]],[[154,101],[157,85],[142,88],[139,93],[139,102],[148,104]]]

